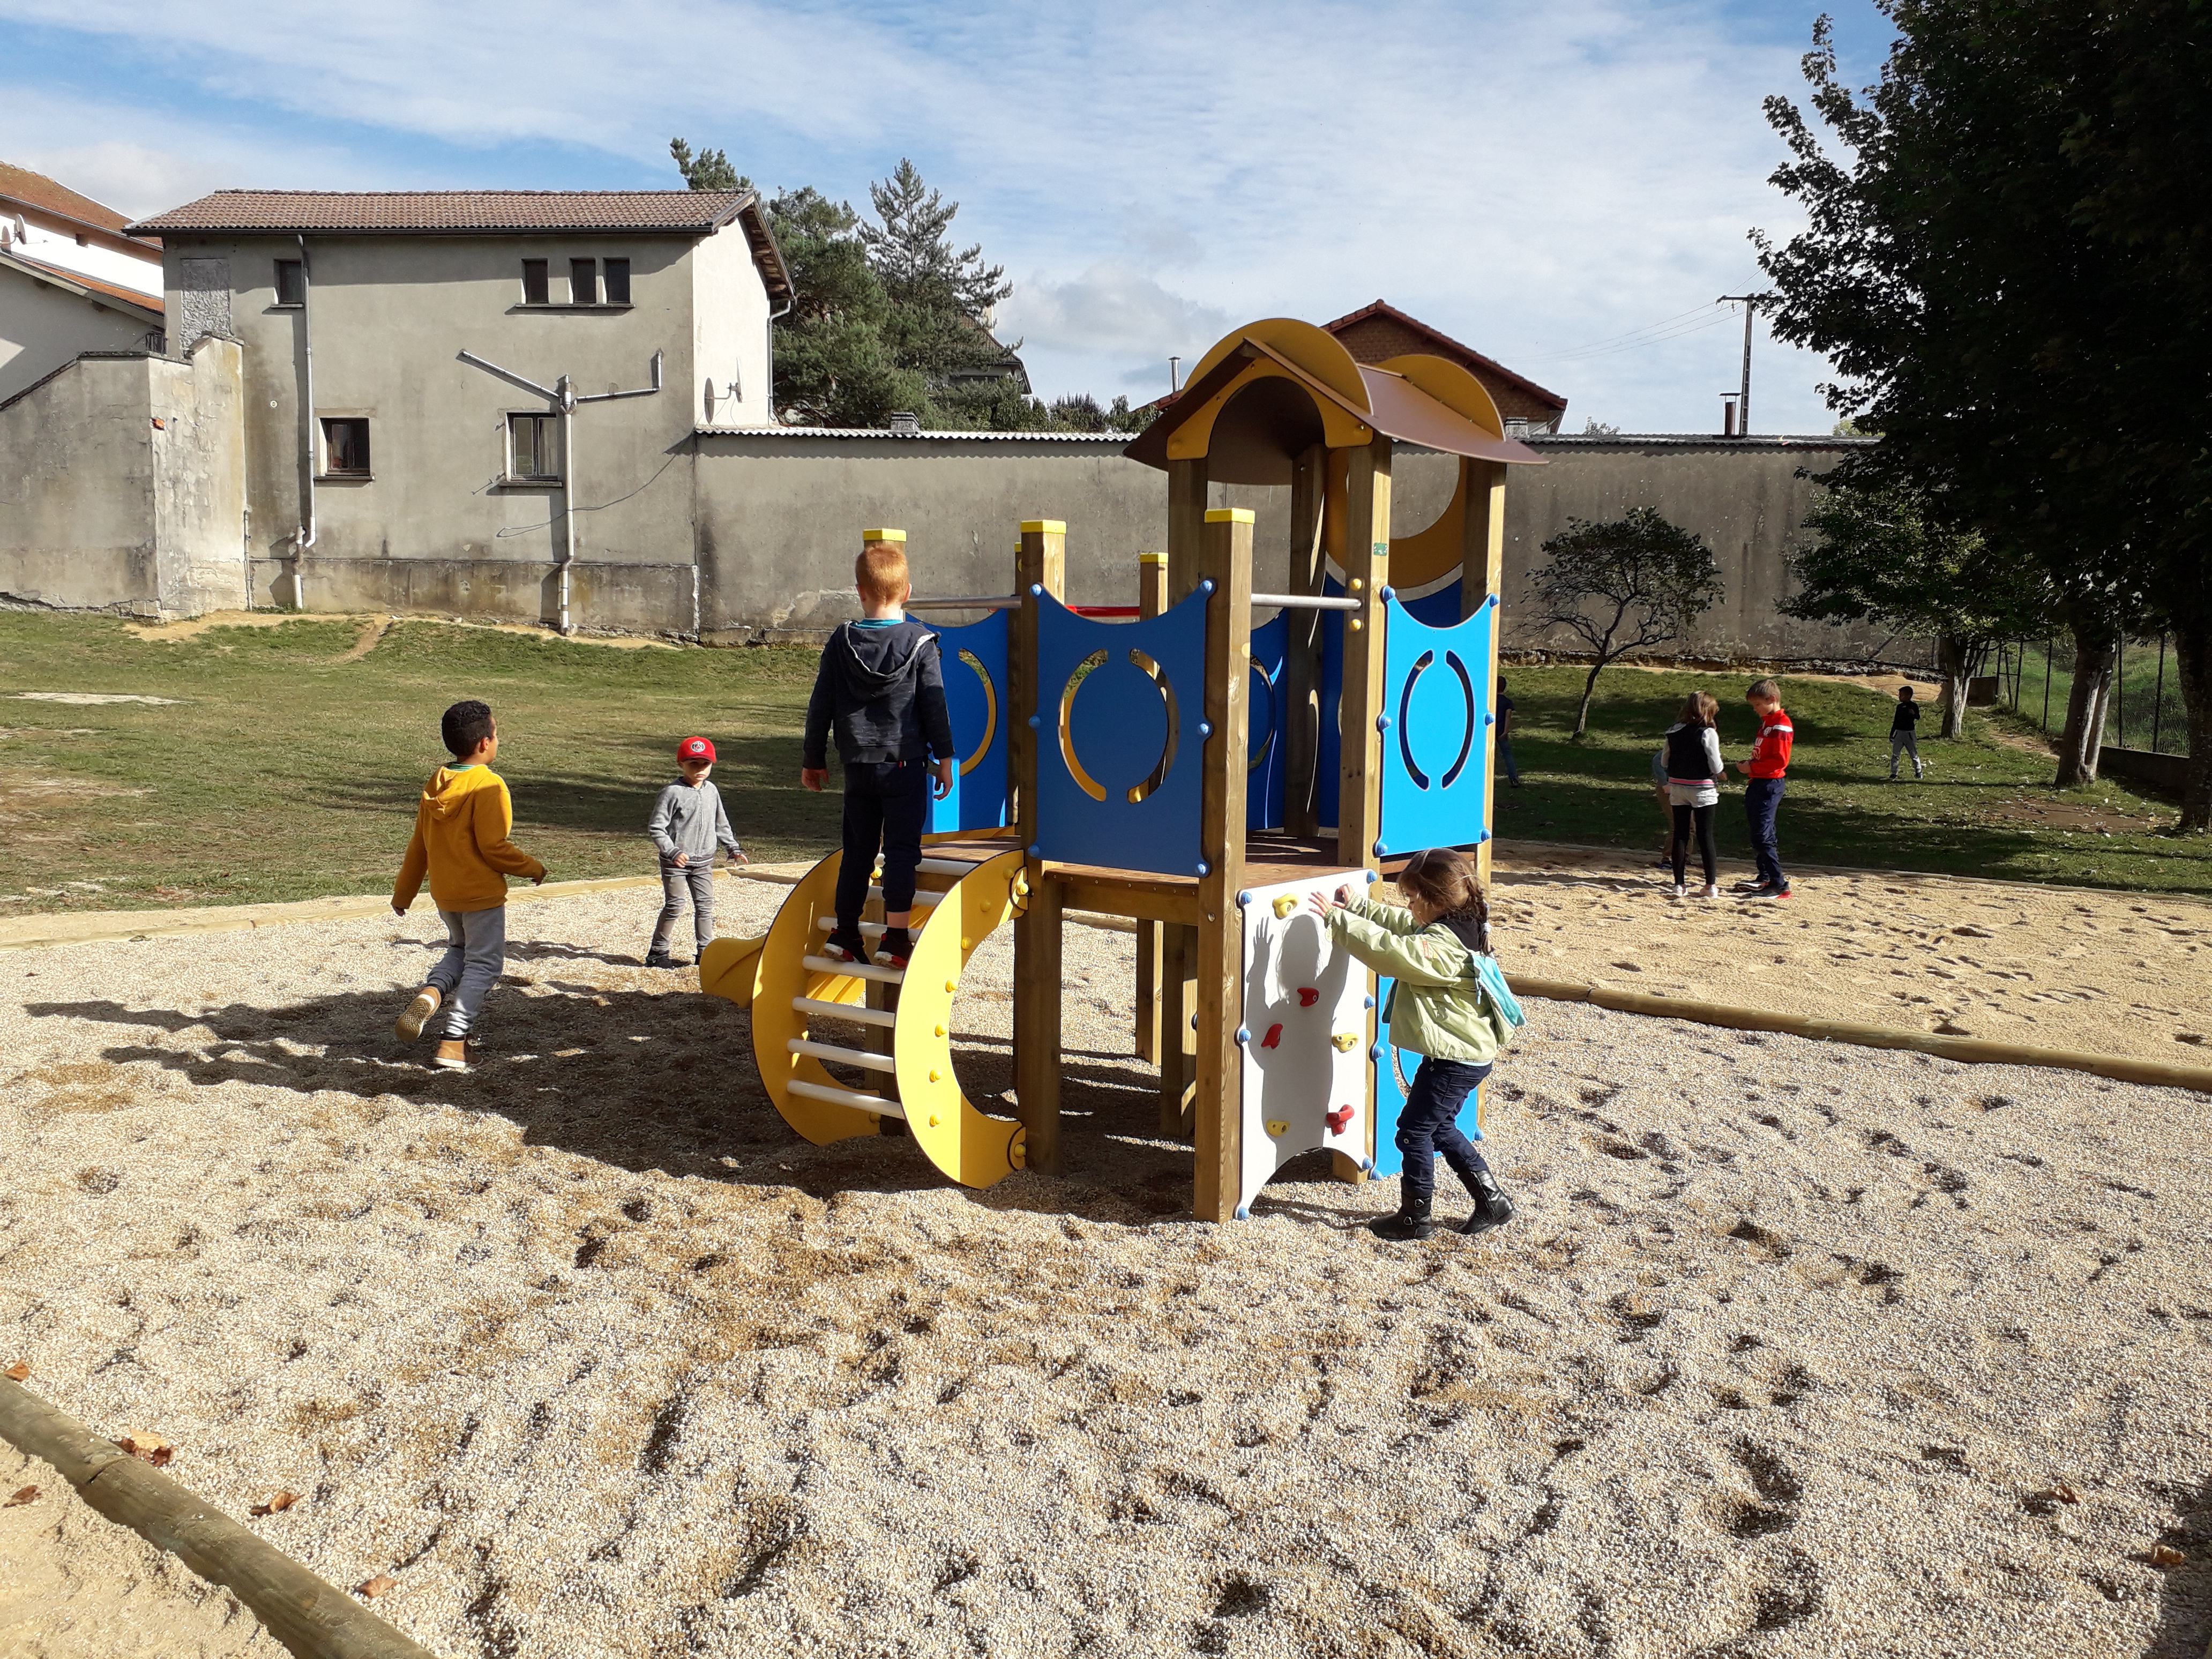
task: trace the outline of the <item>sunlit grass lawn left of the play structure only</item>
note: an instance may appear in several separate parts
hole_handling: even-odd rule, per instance
[[[347,661],[354,622],[137,639],[113,619],[0,613],[0,896],[27,909],[239,905],[389,889],[438,714],[482,697],[515,843],[553,878],[653,874],[646,814],[677,739],[757,863],[836,841],[799,787],[810,650],[619,650],[407,622]],[[53,703],[20,692],[170,697]]]

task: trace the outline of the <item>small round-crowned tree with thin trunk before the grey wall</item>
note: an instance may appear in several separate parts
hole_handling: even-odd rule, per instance
[[[1610,522],[1571,518],[1544,542],[1548,564],[1528,577],[1535,626],[1566,628],[1595,655],[1582,681],[1575,737],[1590,723],[1597,677],[1621,655],[1679,639],[1721,599],[1721,566],[1701,538],[1657,507]]]

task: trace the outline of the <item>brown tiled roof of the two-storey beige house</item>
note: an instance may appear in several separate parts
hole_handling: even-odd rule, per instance
[[[661,232],[703,237],[752,206],[752,190],[217,190],[133,232]]]

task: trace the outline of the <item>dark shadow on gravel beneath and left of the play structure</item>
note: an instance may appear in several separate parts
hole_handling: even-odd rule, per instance
[[[148,1040],[119,1042],[100,1057],[161,1066],[197,1088],[254,1084],[303,1097],[338,1093],[451,1106],[509,1119],[526,1144],[637,1172],[796,1186],[816,1199],[947,1186],[896,1119],[878,1137],[803,1141],[761,1088],[750,1013],[721,998],[679,989],[502,987],[484,1009],[467,1073],[431,1068],[431,1037],[400,1042],[392,1033],[400,1006],[389,991],[352,991],[276,1009],[232,1002],[186,1013],[100,1000],[31,1002],[24,1011],[144,1031]],[[978,1035],[956,1053],[969,1099],[1011,1115],[1006,1040]],[[1157,1110],[1150,1066],[1068,1051],[1064,1177],[1013,1175],[971,1199],[1115,1223],[1188,1217],[1190,1148],[1157,1137]]]

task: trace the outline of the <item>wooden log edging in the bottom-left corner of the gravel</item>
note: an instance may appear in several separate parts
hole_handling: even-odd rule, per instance
[[[221,1584],[299,1659],[436,1659],[274,1544],[7,1378],[0,1438],[53,1464],[108,1520]]]

